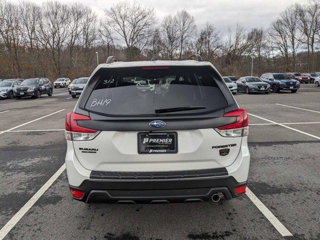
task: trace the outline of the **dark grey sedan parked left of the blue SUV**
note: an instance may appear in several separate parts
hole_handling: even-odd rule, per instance
[[[246,94],[251,92],[270,92],[270,85],[260,79],[258,76],[243,76],[236,81],[238,91],[244,91]]]

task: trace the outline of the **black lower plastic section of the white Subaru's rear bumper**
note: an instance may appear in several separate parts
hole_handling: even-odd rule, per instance
[[[232,199],[234,187],[246,184],[237,182],[232,176],[214,178],[170,179],[170,180],[84,180],[80,186],[69,187],[84,191],[80,199],[84,202],[107,203],[173,203],[207,201],[214,193],[222,193]]]

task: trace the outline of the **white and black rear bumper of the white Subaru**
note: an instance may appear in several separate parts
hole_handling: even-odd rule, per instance
[[[69,187],[85,192],[80,200],[111,203],[205,201],[217,192],[222,192],[226,199],[238,197],[233,188],[246,183],[249,162],[246,137],[242,138],[240,151],[229,166],[161,171],[151,176],[150,172],[105,173],[86,169],[78,161],[72,141],[67,141],[65,156]]]

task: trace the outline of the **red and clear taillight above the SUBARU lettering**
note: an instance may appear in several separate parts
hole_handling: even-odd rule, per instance
[[[92,140],[100,131],[77,124],[78,120],[91,120],[89,116],[69,112],[65,116],[65,138],[73,141]]]

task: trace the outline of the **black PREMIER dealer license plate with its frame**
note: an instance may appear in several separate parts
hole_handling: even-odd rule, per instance
[[[153,138],[150,138],[153,137]],[[144,140],[148,138],[147,140]],[[152,139],[152,142],[150,142]],[[156,140],[164,139],[163,142],[156,142]],[[171,143],[169,140],[172,139]],[[153,142],[155,140],[155,142]],[[139,154],[164,154],[164,153],[177,153],[178,142],[177,132],[138,132],[137,134],[137,147]]]

